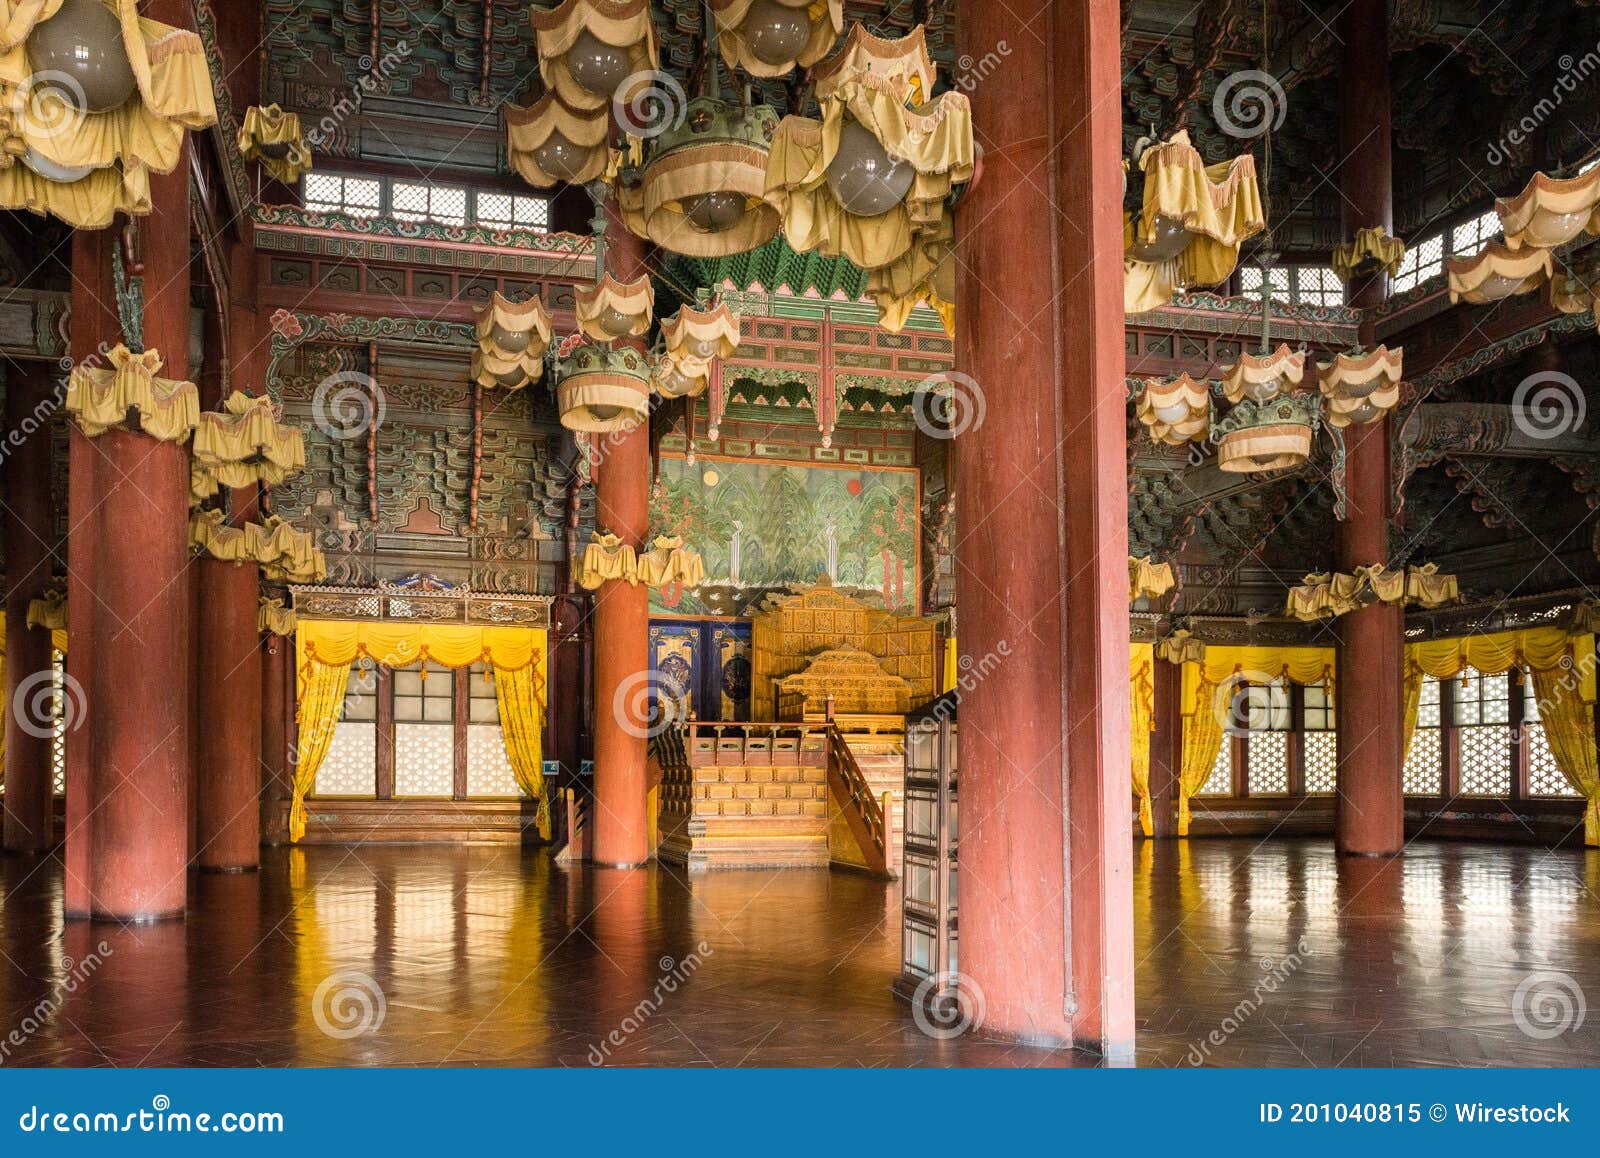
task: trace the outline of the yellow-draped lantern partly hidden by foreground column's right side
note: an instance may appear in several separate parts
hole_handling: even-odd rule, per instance
[[[1139,158],[1144,208],[1125,219],[1123,309],[1142,313],[1178,290],[1226,282],[1238,246],[1267,222],[1250,154],[1206,166],[1182,130]]]

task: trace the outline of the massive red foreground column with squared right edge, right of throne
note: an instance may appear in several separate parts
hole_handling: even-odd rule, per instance
[[[1054,0],[1018,35],[963,0],[984,176],[958,214],[962,969],[984,1030],[1133,1046],[1126,430],[1115,5]],[[1019,109],[1035,115],[1019,115]],[[968,408],[971,411],[971,408]],[[979,661],[981,662],[981,661]]]

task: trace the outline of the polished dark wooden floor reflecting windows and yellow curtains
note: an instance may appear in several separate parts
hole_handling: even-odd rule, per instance
[[[1134,864],[1142,1065],[1600,1064],[1600,1009],[1571,1001],[1600,1000],[1600,853],[1197,840]],[[846,873],[312,848],[197,876],[187,924],[136,929],[62,926],[51,861],[0,862],[0,1065],[1093,1064],[923,1035],[888,992],[898,892]]]

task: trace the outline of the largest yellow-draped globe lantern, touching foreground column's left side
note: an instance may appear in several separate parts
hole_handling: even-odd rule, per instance
[[[784,117],[766,171],[792,250],[872,270],[939,234],[946,198],[973,178],[974,146],[965,94],[923,104],[933,75],[920,26],[880,40],[858,24],[814,70],[822,120]]]

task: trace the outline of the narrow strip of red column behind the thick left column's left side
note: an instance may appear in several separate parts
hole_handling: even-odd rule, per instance
[[[110,229],[72,230],[72,365],[99,360],[120,341],[117,293],[112,285]],[[69,918],[90,915],[90,803],[94,702],[88,697],[93,677],[99,589],[96,584],[101,541],[99,448],[77,422],[67,422],[67,691],[80,710],[67,729],[67,833],[64,908]]]

